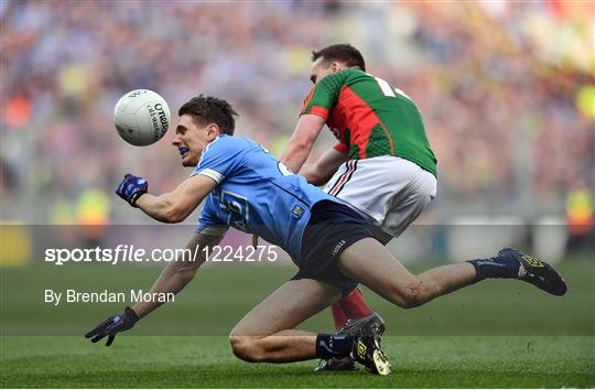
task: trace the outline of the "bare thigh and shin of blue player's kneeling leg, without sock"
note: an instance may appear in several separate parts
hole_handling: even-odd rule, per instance
[[[247,361],[288,362],[316,357],[316,334],[294,331],[340,300],[340,291],[312,279],[281,285],[231,331],[234,354]]]

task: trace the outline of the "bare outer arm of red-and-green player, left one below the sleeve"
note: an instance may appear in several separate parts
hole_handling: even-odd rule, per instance
[[[300,117],[293,136],[291,137],[281,162],[292,172],[300,172],[306,161],[314,141],[318,138],[325,119],[313,113],[304,113]]]

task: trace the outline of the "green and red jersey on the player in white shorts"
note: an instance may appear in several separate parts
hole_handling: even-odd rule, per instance
[[[418,107],[381,78],[355,68],[328,75],[312,88],[301,113],[324,118],[339,140],[335,149],[349,159],[394,155],[437,176]]]

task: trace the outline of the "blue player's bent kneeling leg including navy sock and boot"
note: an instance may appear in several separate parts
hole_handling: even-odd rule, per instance
[[[234,328],[230,335],[234,354],[251,362],[353,356],[372,373],[390,373],[390,362],[370,326],[354,335],[315,335],[293,329],[339,299],[338,289],[315,280],[283,284]]]

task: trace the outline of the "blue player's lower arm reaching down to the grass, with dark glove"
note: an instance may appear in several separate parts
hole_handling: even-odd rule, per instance
[[[167,264],[153,283],[153,286],[149,290],[151,296],[155,296],[154,293],[176,294],[182,291],[193,280],[198,268],[206,261],[206,253],[210,252],[221,238],[220,235],[195,235],[186,246],[184,253],[176,261]],[[93,343],[97,343],[107,336],[106,346],[109,347],[118,333],[132,328],[140,318],[162,304],[159,300],[138,302],[132,307],[126,307],[123,314],[108,317],[88,332],[85,337],[90,338]]]

